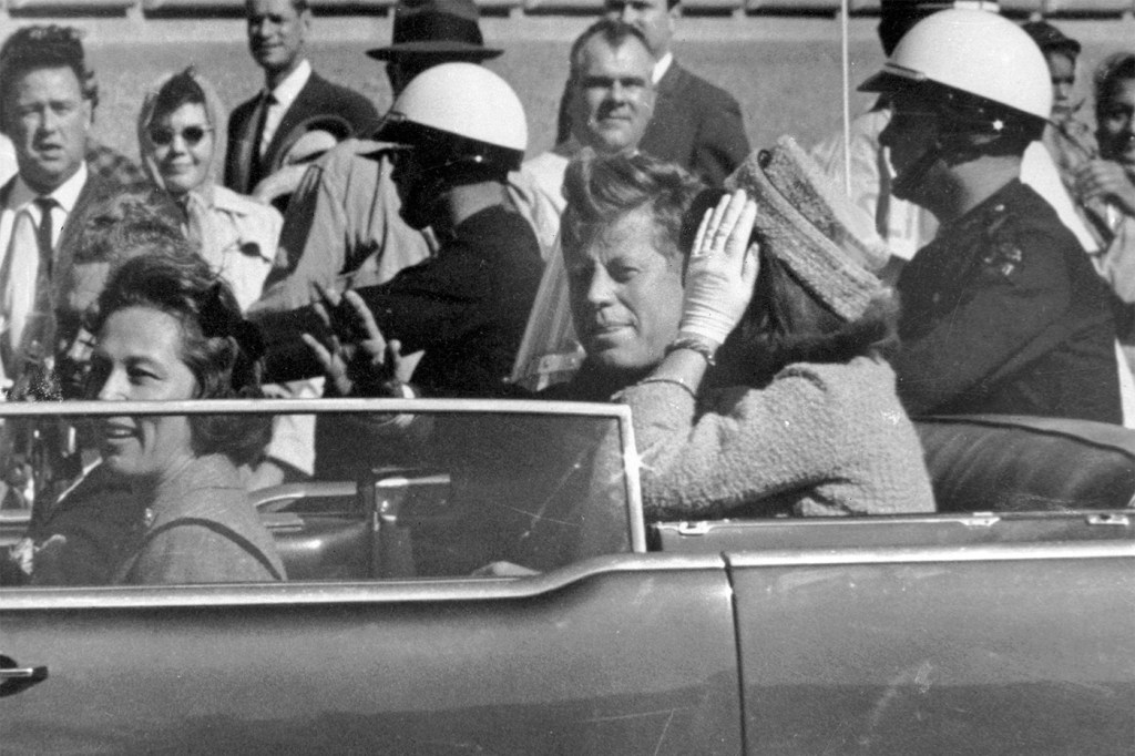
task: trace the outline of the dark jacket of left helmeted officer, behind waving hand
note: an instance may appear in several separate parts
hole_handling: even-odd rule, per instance
[[[424,350],[413,384],[432,396],[501,396],[544,271],[523,217],[496,205],[466,218],[436,257],[359,289],[387,339]],[[311,308],[263,313],[268,380],[319,375],[299,335],[319,334]]]

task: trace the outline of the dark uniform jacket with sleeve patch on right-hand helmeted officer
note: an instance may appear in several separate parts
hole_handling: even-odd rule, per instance
[[[1108,293],[1056,211],[1014,180],[902,270],[899,396],[911,415],[1121,422]]]

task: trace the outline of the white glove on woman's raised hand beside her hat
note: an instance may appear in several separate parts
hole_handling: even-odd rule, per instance
[[[679,337],[720,346],[745,314],[759,270],[759,247],[749,244],[757,203],[745,190],[706,210],[686,272],[686,305]]]

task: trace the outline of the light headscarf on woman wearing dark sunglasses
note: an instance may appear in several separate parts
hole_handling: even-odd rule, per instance
[[[142,100],[142,111],[138,114],[137,136],[138,151],[142,156],[142,166],[145,168],[153,183],[163,190],[166,188],[166,184],[162,180],[161,170],[158,168],[158,163],[154,162],[152,156],[150,154],[150,150],[148,149],[148,132],[153,123],[158,93],[171,78],[174,78],[174,76],[177,76],[180,73],[182,72],[162,74],[161,77],[146,87]],[[194,245],[200,247],[201,257],[215,263],[220,258],[221,251],[212,249],[212,246],[217,243],[217,240],[220,238],[219,234],[213,229],[213,186],[217,183],[217,178],[221,175],[225,150],[227,148],[227,110],[225,109],[225,104],[221,102],[220,96],[217,94],[217,87],[215,87],[209,79],[196,73],[192,66],[187,68],[185,73],[193,78],[194,83],[201,87],[201,91],[205,95],[205,118],[209,120],[209,126],[212,128],[213,151],[210,156],[209,166],[205,168],[205,175],[202,182],[197,186],[190,190],[185,196],[180,198],[178,203],[185,211],[186,236]]]

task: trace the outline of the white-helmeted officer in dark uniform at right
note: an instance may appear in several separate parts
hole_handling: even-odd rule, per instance
[[[1020,182],[1052,103],[1044,57],[1011,22],[943,10],[860,91],[886,92],[893,193],[941,224],[898,280],[899,395],[914,414],[1121,422],[1108,295],[1075,236]]]

